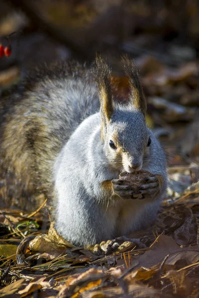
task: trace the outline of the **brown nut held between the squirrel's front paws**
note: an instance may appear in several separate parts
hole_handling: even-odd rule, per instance
[[[148,171],[140,170],[134,173],[128,173],[128,172],[122,172],[119,175],[119,179],[121,181],[124,181],[126,185],[129,185],[129,187],[133,188],[135,191],[135,194],[133,195],[136,199],[144,199],[144,196],[139,193],[140,185],[143,184],[143,180],[149,177],[154,177],[154,174],[151,174]]]

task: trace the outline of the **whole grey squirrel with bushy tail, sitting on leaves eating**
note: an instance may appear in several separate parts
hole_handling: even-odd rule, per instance
[[[77,62],[36,68],[1,103],[5,188],[17,186],[18,196],[45,193],[58,233],[78,246],[148,227],[167,188],[165,153],[146,125],[139,73],[128,57],[122,64],[126,103],[114,100],[111,70],[100,57],[90,68]],[[119,179],[140,169],[153,174],[140,185],[143,200]]]

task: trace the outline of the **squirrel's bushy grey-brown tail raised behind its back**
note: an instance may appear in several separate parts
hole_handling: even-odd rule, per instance
[[[0,199],[17,201],[39,192],[49,197],[57,154],[98,109],[85,65],[58,62],[32,70],[0,103]]]

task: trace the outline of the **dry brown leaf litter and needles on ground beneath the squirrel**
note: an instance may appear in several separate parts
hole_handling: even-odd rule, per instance
[[[12,216],[1,212],[5,222]],[[70,244],[52,222],[46,223],[47,233],[35,225],[25,238],[17,230],[7,233],[0,238],[7,243],[0,244],[0,297],[197,297],[198,214],[199,187],[193,187],[175,201],[163,201],[152,227],[128,235],[146,248],[118,238],[119,246],[100,255]],[[27,215],[15,211],[14,216],[20,222]],[[29,220],[41,216],[40,210]],[[24,233],[24,226],[19,228]]]

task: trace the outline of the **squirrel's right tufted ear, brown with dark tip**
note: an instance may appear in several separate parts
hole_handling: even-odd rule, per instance
[[[122,56],[123,70],[126,74],[129,82],[129,99],[132,105],[139,109],[144,115],[146,114],[146,99],[143,93],[140,76],[135,63],[128,58],[128,56]]]

